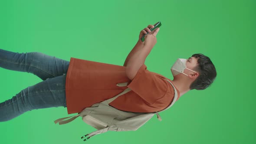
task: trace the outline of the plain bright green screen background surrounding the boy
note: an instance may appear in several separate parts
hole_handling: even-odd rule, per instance
[[[209,56],[217,78],[192,90],[137,131],[95,131],[66,108],[28,111],[0,122],[2,144],[255,144],[255,0],[7,0],[0,1],[0,49],[43,52],[123,65],[139,33],[161,21],[148,70],[173,79],[177,58]],[[0,68],[0,102],[41,82],[36,75]],[[253,122],[254,121],[254,122]]]

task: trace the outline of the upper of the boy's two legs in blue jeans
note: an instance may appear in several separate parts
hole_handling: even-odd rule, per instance
[[[69,61],[48,56],[41,52],[10,52],[0,49],[0,67],[33,73],[42,80],[67,73]]]

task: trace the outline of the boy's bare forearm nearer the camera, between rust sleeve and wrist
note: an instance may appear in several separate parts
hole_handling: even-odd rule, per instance
[[[132,80],[135,77],[138,70],[144,64],[152,48],[153,46],[143,46],[131,56],[125,67],[125,74],[129,79]]]

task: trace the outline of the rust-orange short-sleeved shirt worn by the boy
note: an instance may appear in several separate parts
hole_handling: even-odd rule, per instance
[[[142,65],[131,81],[125,75],[125,66],[71,57],[66,75],[68,114],[79,113],[95,103],[118,95],[126,88],[131,88],[131,91],[119,96],[109,105],[121,111],[161,111],[168,107],[174,98],[174,89],[165,79],[167,78],[163,75],[150,72],[146,65]],[[128,82],[128,85],[116,85],[124,82]],[[178,100],[180,92],[177,92]]]

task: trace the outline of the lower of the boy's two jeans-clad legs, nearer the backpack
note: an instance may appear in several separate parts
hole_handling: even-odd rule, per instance
[[[13,98],[0,103],[0,121],[9,121],[26,111],[39,108],[66,108],[65,84],[66,74],[23,89]]]

